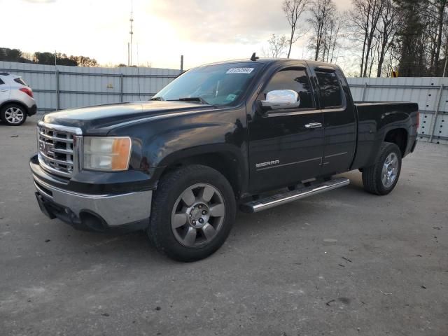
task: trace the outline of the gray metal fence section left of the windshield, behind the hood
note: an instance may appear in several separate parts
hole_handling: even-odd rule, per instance
[[[0,62],[0,71],[22,76],[32,87],[38,112],[151,98],[180,70],[84,68]]]

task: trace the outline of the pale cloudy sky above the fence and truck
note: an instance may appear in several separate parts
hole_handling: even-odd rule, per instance
[[[350,0],[335,0],[339,10]],[[288,34],[282,0],[134,0],[134,63],[185,69],[261,54],[270,34]],[[127,64],[131,0],[0,0],[0,47],[65,52]],[[7,29],[5,29],[7,27]],[[307,58],[307,38],[291,57]]]

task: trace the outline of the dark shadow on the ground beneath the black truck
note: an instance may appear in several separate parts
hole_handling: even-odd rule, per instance
[[[226,245],[229,243],[235,248],[243,248],[246,241],[257,237],[261,241],[269,239],[281,227],[282,230],[295,228],[297,222],[306,221],[306,218],[318,217],[322,207],[342,207],[354,206],[360,197],[374,197],[364,192],[360,174],[358,172],[350,172],[343,174],[351,180],[351,184],[345,188],[332,190],[329,193],[323,193],[304,200],[283,204],[279,207],[262,211],[258,214],[244,214],[241,211],[237,213],[237,220],[230,232],[228,243],[210,258],[222,258],[221,254],[232,253],[225,251]],[[343,211],[343,209],[341,209]],[[59,223],[59,225],[64,225]],[[314,225],[318,225],[315,223]],[[69,244],[79,246],[80,251],[89,255],[90,260],[95,258],[107,258],[114,260],[119,256],[126,256],[133,265],[146,265],[145,267],[153,267],[155,265],[188,265],[181,262],[169,260],[164,255],[160,255],[155,246],[151,244],[146,232],[138,231],[125,234],[111,234],[98,232],[82,232],[72,230],[66,227],[66,235],[69,236]],[[238,237],[235,239],[235,237]],[[210,259],[209,258],[209,259]],[[223,257],[225,258],[225,257]],[[94,261],[92,261],[94,262]]]

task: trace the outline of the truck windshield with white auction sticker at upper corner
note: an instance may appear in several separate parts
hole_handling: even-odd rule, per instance
[[[200,66],[183,73],[151,100],[235,106],[261,66],[255,62]]]

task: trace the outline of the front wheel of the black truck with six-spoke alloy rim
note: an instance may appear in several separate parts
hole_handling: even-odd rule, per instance
[[[160,179],[147,233],[169,258],[201,260],[224,244],[235,213],[235,195],[221,173],[202,165],[181,167]]]

